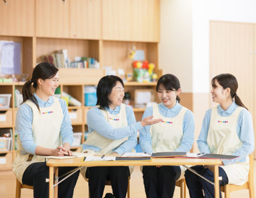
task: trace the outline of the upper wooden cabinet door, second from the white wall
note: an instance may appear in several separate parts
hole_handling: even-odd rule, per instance
[[[131,0],[101,2],[103,39],[131,41]]]

